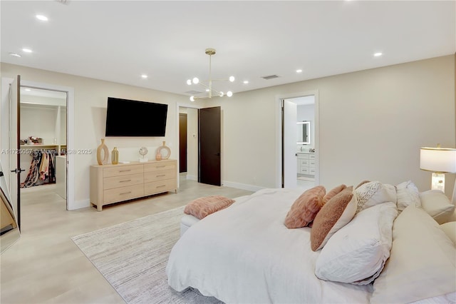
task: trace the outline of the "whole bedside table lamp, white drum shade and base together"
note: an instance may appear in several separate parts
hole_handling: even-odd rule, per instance
[[[456,173],[456,148],[420,148],[420,169],[432,171],[432,190],[445,192],[445,173]]]

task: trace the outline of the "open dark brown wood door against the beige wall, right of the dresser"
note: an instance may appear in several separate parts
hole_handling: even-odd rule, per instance
[[[220,131],[221,109],[201,108],[198,110],[198,181],[221,186]]]

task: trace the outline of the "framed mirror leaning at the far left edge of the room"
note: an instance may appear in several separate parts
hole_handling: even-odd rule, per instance
[[[21,236],[17,226],[16,215],[11,204],[11,196],[9,195],[8,187],[6,186],[6,177],[0,163],[0,203],[1,203],[1,219],[0,219],[0,253],[13,245]]]

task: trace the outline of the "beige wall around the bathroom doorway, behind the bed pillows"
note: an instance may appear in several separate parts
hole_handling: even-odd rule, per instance
[[[224,111],[224,181],[276,187],[275,96],[318,91],[320,183],[363,180],[430,188],[420,147],[455,147],[455,56],[216,98]],[[447,174],[445,193],[455,176]]]

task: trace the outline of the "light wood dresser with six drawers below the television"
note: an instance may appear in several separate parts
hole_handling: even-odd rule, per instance
[[[177,192],[177,162],[131,162],[90,166],[90,203],[103,206],[167,191]]]

